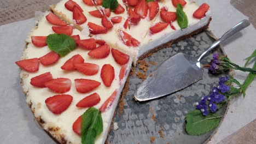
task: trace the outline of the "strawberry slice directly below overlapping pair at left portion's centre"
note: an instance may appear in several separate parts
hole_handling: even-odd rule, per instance
[[[101,85],[98,81],[88,79],[75,79],[74,81],[75,89],[77,89],[79,93],[88,93]]]

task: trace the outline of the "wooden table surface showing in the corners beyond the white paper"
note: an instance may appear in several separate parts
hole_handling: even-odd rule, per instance
[[[59,0],[1,0],[0,1],[0,26],[26,20],[34,17],[34,11],[45,11],[50,4]],[[256,2],[255,0],[230,0],[232,7],[239,10],[243,15],[249,17],[254,28],[256,28]],[[256,119],[245,127],[237,130],[232,135],[226,137],[220,144],[224,143],[253,143],[256,141]]]

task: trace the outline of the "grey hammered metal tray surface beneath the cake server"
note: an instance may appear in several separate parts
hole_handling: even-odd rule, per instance
[[[178,52],[188,55],[199,56],[207,47],[213,43],[214,39],[207,31],[194,35],[174,43],[171,47],[166,47],[152,56],[145,58],[148,62],[155,62],[147,70],[147,76],[164,62],[167,58]],[[221,47],[214,49],[210,54],[202,59],[202,64],[210,63],[212,53],[224,53]],[[135,71],[141,71],[135,68]],[[108,136],[108,143],[203,143],[214,134],[214,130],[201,135],[190,136],[185,133],[185,113],[194,110],[195,102],[200,101],[203,95],[208,95],[213,86],[218,85],[218,77],[208,73],[204,69],[203,79],[193,85],[174,94],[167,95],[159,99],[138,103],[133,99],[138,85],[142,82],[136,75],[129,77],[129,90],[124,97],[124,107],[121,114],[120,107],[114,117],[113,125],[118,125],[118,129],[112,125],[112,130]],[[227,106],[219,111],[220,115],[225,115]],[[116,127],[116,126],[115,126]],[[155,139],[153,141],[153,139]],[[150,141],[151,140],[151,141]]]

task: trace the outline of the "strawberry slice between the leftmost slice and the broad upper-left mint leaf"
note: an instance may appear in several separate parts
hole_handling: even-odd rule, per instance
[[[50,65],[59,60],[60,56],[58,53],[51,51],[47,53],[46,55],[39,58],[40,63],[43,65]]]

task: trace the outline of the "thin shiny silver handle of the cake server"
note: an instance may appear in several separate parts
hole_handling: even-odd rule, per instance
[[[229,37],[231,37],[233,34],[241,31],[243,28],[246,28],[250,25],[250,22],[248,20],[242,20],[239,23],[237,23],[234,27],[232,27],[231,29],[229,29],[228,32],[226,32],[225,34],[222,35],[222,37],[220,37],[219,39],[217,39],[214,43],[212,43],[210,45],[210,47],[202,53],[202,55],[197,59],[197,62],[199,62],[203,56],[205,56],[205,54],[209,51],[211,51],[212,49],[214,49],[214,47],[218,46],[220,43],[222,43],[222,41],[228,39]]]

